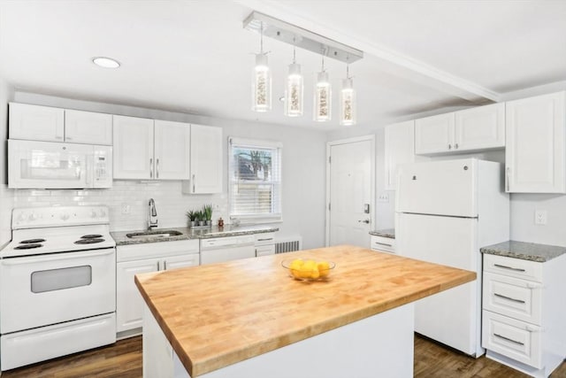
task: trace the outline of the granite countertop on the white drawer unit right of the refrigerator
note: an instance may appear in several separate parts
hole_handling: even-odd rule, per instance
[[[508,258],[521,258],[543,263],[566,253],[566,248],[558,245],[538,243],[525,243],[509,240],[508,242],[488,245],[479,249],[482,253],[505,256]]]

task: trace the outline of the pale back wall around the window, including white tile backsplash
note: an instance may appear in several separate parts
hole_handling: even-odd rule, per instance
[[[227,137],[239,136],[283,143],[283,222],[279,236],[302,235],[303,248],[323,246],[325,235],[325,134],[301,127],[281,127],[237,120],[220,120],[179,112],[164,112],[132,106],[103,104],[55,96],[16,92],[14,101],[107,112],[157,120],[176,120],[223,128],[225,189],[220,195],[183,195],[180,181],[114,181],[113,189],[102,190],[17,190],[16,206],[51,204],[108,204],[112,230],[144,228],[146,204],[157,202],[160,227],[183,227],[185,212],[206,203],[218,204],[215,219],[228,219],[227,212]],[[131,213],[121,214],[122,204],[130,204]]]

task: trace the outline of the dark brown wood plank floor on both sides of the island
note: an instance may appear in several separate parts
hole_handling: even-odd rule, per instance
[[[139,378],[142,376],[142,337],[73,354],[2,374],[2,378]],[[302,378],[294,375],[297,378]],[[472,359],[420,336],[415,337],[415,377],[421,378],[524,378],[527,375],[491,359]],[[566,363],[552,378],[566,378]],[[356,378],[356,377],[345,377]],[[386,378],[386,377],[379,377]]]

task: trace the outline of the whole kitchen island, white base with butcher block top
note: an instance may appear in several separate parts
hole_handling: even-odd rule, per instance
[[[332,260],[327,282],[281,261]],[[475,273],[354,246],[136,275],[146,377],[409,377],[412,302]]]

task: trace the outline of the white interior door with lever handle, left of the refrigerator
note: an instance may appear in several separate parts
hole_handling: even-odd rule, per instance
[[[373,135],[329,143],[328,245],[370,245],[373,220]]]

